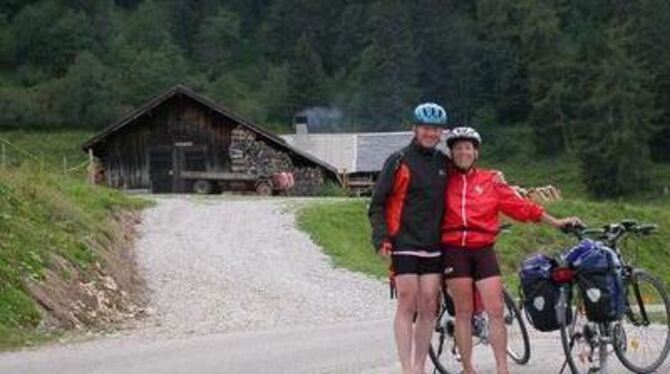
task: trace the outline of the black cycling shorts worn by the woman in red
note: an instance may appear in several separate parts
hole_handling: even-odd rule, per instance
[[[472,278],[476,281],[500,275],[493,247],[463,248],[444,246],[444,275],[447,279]]]

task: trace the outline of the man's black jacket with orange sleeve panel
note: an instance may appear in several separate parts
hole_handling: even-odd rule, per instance
[[[412,141],[393,153],[379,173],[368,215],[372,244],[394,251],[440,250],[447,158]]]

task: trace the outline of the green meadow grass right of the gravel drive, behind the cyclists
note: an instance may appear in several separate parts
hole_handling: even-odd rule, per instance
[[[363,199],[314,202],[298,211],[299,227],[331,256],[335,266],[376,277],[387,274],[386,262],[370,244],[370,225]],[[670,282],[670,211],[667,206],[620,202],[592,202],[569,199],[547,207],[556,216],[577,215],[591,224],[604,224],[625,218],[655,222],[656,235],[631,238],[624,254],[640,267]],[[515,224],[499,237],[497,253],[510,287],[516,287],[516,272],[521,261],[537,252],[556,253],[575,243],[573,237],[546,226]]]

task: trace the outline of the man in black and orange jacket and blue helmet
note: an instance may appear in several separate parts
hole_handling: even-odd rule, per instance
[[[446,123],[441,106],[416,107],[414,138],[384,163],[368,212],[373,245],[391,257],[398,297],[394,332],[404,374],[424,372],[437,310],[447,159],[436,146]]]

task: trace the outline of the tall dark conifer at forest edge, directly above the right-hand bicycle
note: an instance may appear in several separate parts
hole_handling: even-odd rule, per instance
[[[630,25],[614,22],[607,51],[585,104],[581,159],[587,188],[597,196],[621,196],[649,182],[649,140],[656,112],[649,78],[630,53]]]

